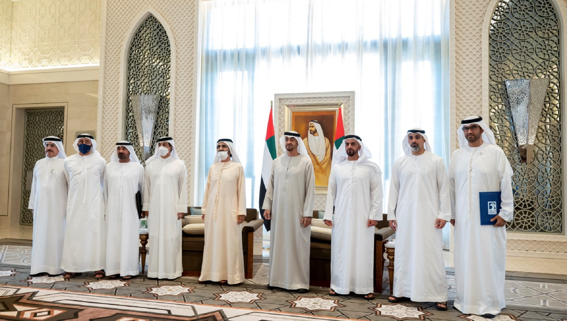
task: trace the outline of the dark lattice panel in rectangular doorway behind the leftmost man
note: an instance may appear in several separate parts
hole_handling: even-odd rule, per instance
[[[33,224],[33,214],[28,210],[29,190],[31,186],[33,166],[37,160],[45,157],[45,149],[41,140],[46,136],[63,138],[65,134],[64,110],[29,110],[26,111],[26,137],[24,139],[24,164],[22,175],[22,214],[20,224]]]

